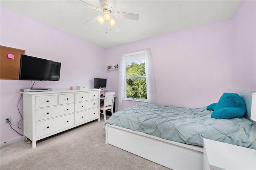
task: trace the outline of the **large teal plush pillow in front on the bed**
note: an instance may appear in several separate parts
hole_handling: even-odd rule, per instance
[[[232,119],[243,117],[246,112],[244,100],[236,93],[224,93],[214,107],[212,118]]]

